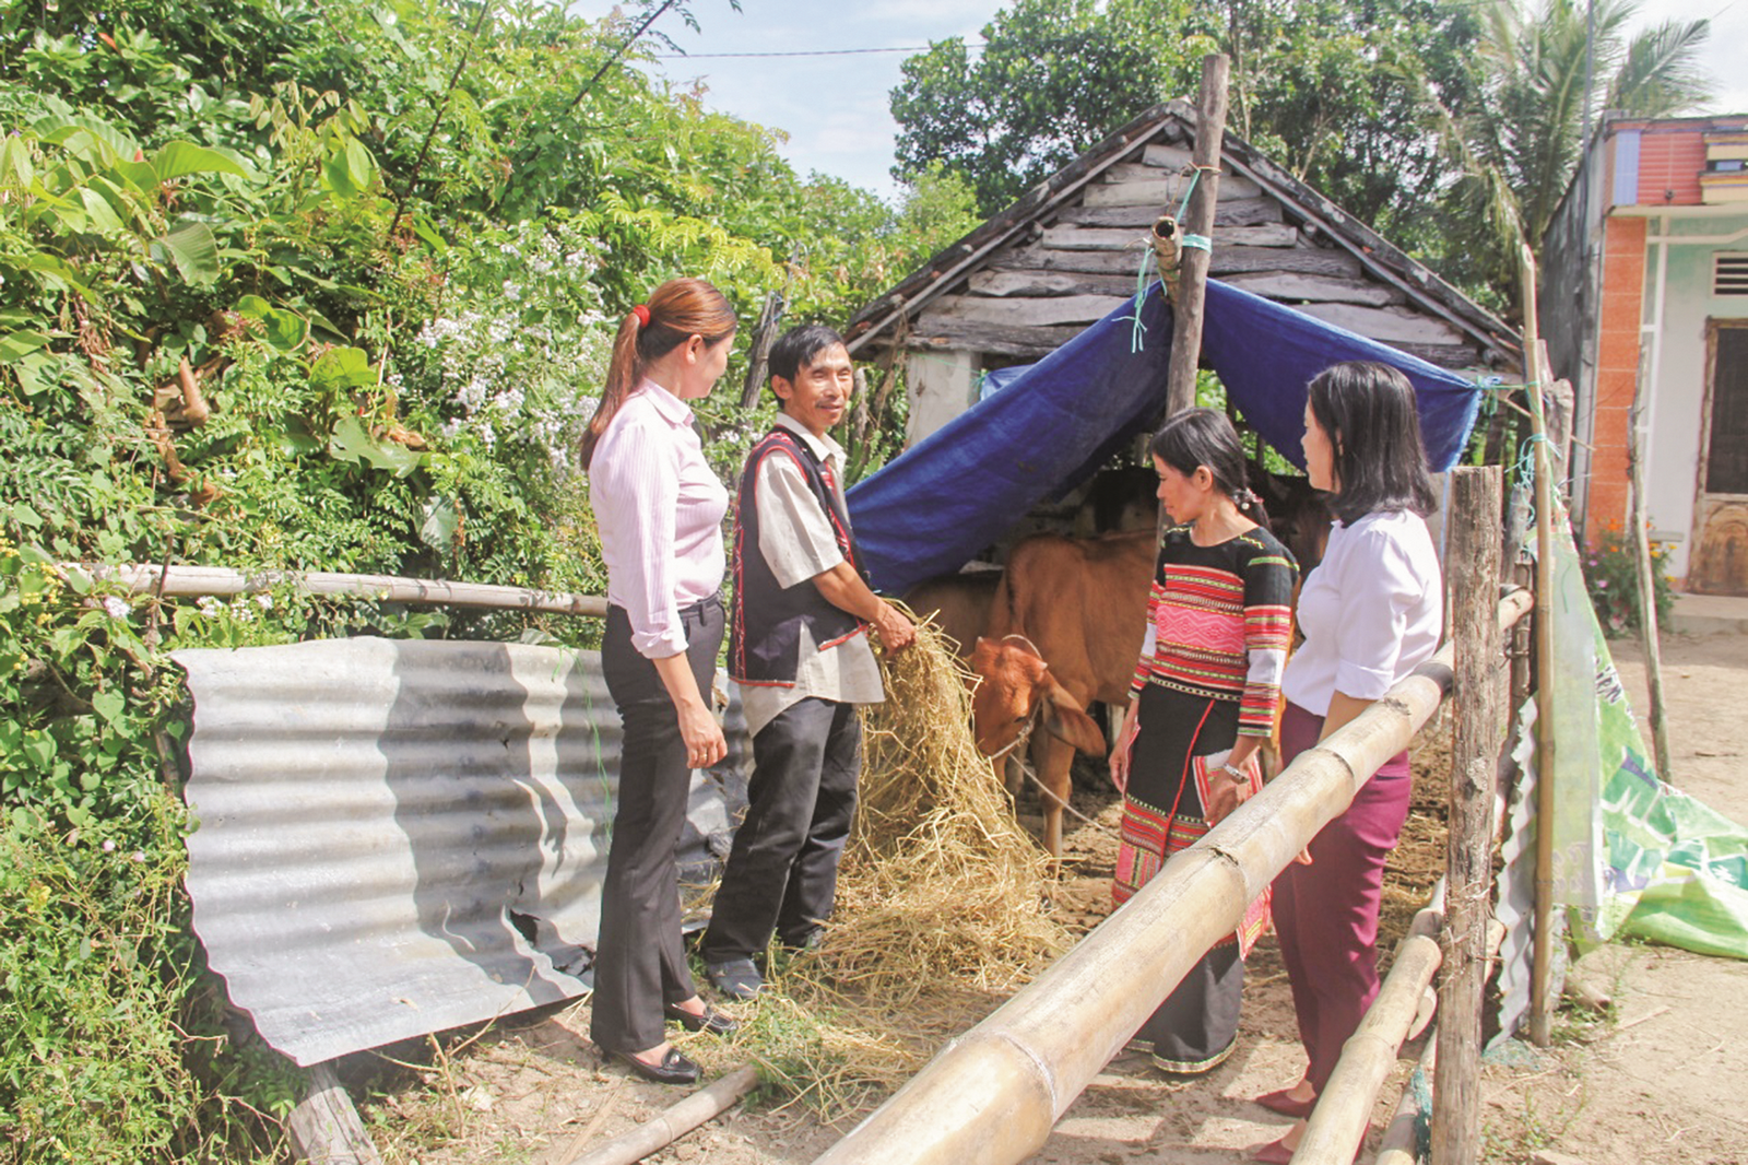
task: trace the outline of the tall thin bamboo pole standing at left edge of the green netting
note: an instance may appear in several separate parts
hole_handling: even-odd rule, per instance
[[[1535,446],[1535,677],[1536,677],[1536,822],[1535,822],[1535,946],[1530,960],[1530,1039],[1547,1048],[1554,992],[1554,467],[1543,413],[1545,369],[1536,332],[1535,254],[1521,247],[1524,282],[1524,380],[1530,392]]]

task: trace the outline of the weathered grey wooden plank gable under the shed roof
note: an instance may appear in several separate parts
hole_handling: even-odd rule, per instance
[[[1136,145],[1079,199],[996,250],[965,283],[930,303],[912,348],[1038,359],[1134,294],[1148,227],[1187,189],[1185,145]],[[1148,264],[1152,278],[1152,264]],[[1234,173],[1220,175],[1213,276],[1446,367],[1474,367],[1479,348],[1367,278],[1348,250],[1295,220],[1292,208]]]

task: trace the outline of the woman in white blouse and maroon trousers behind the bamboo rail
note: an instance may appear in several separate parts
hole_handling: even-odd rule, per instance
[[[1444,584],[1426,514],[1437,507],[1414,385],[1386,364],[1349,362],[1311,381],[1306,472],[1330,493],[1335,525],[1299,591],[1304,644],[1287,665],[1281,759],[1292,761],[1363,712],[1439,647]],[[1309,1064],[1257,1104],[1299,1118],[1252,1151],[1288,1162],[1304,1118],[1377,995],[1377,906],[1384,859],[1409,812],[1400,752],[1311,840],[1309,864],[1274,880],[1274,927]]]

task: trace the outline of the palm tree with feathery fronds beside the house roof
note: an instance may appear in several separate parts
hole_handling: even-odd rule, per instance
[[[1540,254],[1577,170],[1585,119],[1594,124],[1605,108],[1664,117],[1710,94],[1697,61],[1710,21],[1664,21],[1627,37],[1636,0],[1592,7],[1542,0],[1526,10],[1516,0],[1491,0],[1475,56],[1481,100],[1458,114],[1426,94],[1446,152],[1465,173],[1444,220],[1474,282],[1517,287],[1517,245]]]

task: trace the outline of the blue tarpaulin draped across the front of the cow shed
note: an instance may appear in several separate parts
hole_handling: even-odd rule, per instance
[[[1091,478],[1166,406],[1171,306],[1159,283],[850,490],[850,518],[874,586],[902,593],[953,574],[1026,511]],[[1208,280],[1203,359],[1245,418],[1295,465],[1306,385],[1341,360],[1402,369],[1419,397],[1433,469],[1456,464],[1481,390],[1456,373],[1283,304]]]

